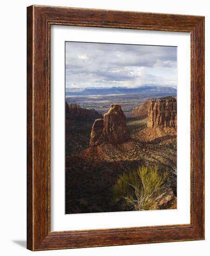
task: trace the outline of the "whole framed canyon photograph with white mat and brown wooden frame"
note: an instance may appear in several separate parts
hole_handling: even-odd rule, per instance
[[[27,7],[27,248],[204,239],[204,17]]]

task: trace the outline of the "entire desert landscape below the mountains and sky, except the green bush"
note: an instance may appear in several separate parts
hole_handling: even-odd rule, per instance
[[[174,95],[167,89],[66,93],[66,214],[135,210],[116,200],[116,193],[121,180],[135,176],[139,167],[154,168],[162,182],[152,204],[141,209],[177,208]]]

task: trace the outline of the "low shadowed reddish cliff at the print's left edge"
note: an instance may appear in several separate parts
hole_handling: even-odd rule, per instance
[[[79,104],[68,104],[66,102],[66,113],[72,116],[87,116],[93,118],[100,118],[101,115],[94,109],[81,108]]]

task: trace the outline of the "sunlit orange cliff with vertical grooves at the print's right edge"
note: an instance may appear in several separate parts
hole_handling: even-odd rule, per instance
[[[177,127],[177,100],[174,97],[151,100],[148,128]]]

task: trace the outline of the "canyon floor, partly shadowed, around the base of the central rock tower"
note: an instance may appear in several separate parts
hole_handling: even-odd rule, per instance
[[[140,165],[176,167],[177,136],[173,128],[151,129],[146,119],[127,118],[131,139],[89,147],[94,118],[66,115],[66,214],[121,211],[112,186],[123,172]],[[176,193],[176,187],[174,193]]]

